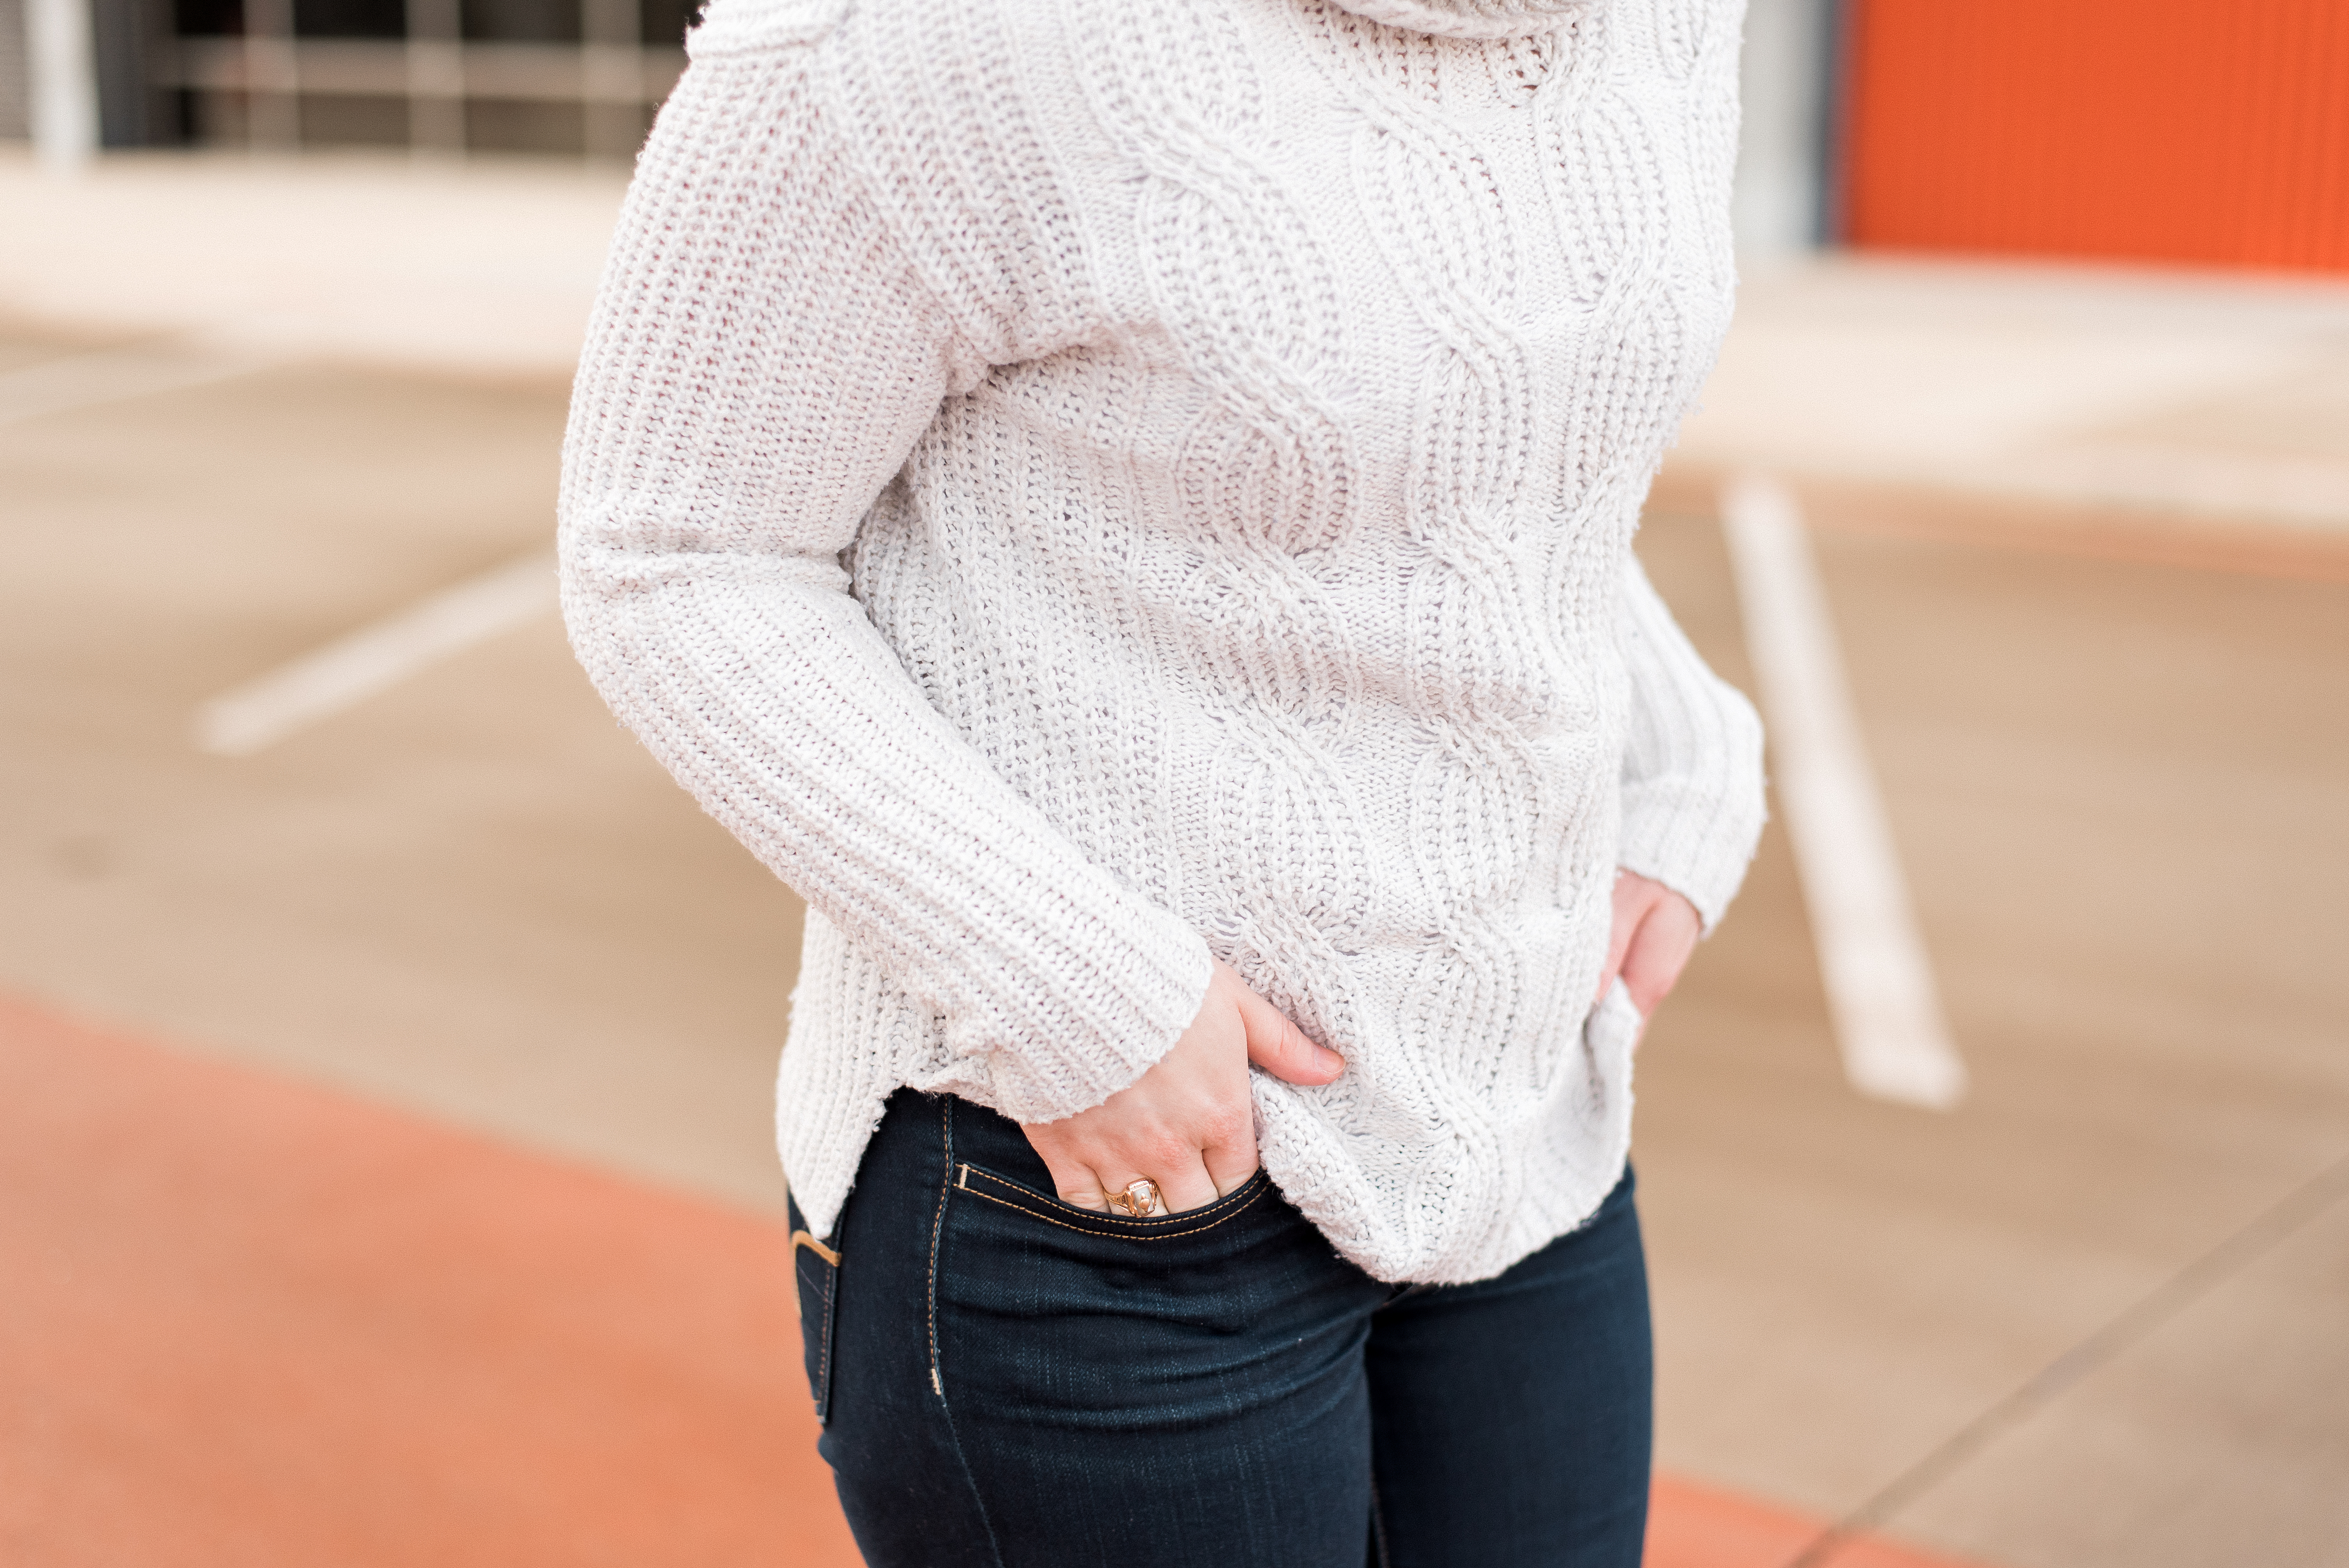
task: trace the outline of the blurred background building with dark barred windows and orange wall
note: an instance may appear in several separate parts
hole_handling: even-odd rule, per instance
[[[0,138],[35,89],[103,148],[625,160],[693,0],[0,0]],[[87,45],[38,47],[42,28]],[[40,61],[52,61],[47,68]],[[2349,268],[2335,0],[1752,0],[1738,223],[1818,242]],[[70,134],[63,131],[63,134]]]

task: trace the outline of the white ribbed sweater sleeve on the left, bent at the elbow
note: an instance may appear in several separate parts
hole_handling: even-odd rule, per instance
[[[937,1012],[980,1099],[1073,1115],[1189,1026],[1207,948],[1022,798],[850,594],[841,552],[987,364],[827,124],[822,45],[705,42],[573,392],[573,648],[695,800]]]

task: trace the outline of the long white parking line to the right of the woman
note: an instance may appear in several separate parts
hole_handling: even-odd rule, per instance
[[[1802,509],[1783,484],[1745,474],[1722,488],[1722,530],[1844,1075],[1872,1099],[1950,1110],[1966,1063],[1917,934]]]

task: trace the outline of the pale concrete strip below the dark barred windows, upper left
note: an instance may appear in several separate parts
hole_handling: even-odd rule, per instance
[[[465,376],[568,376],[625,171],[369,153],[0,148],[0,315]]]

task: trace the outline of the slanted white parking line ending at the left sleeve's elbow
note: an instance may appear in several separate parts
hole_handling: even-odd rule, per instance
[[[482,573],[214,697],[195,711],[195,744],[251,756],[552,608],[552,554]]]

